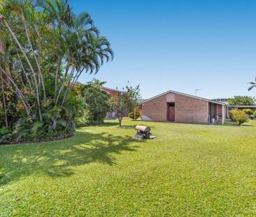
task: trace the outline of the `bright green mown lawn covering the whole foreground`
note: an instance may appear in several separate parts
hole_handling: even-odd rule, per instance
[[[157,139],[135,140],[136,124]],[[0,216],[256,215],[256,121],[116,125],[0,146]]]

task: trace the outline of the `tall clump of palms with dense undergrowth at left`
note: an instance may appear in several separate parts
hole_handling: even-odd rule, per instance
[[[78,78],[113,59],[110,43],[69,1],[0,3],[0,126],[13,132],[5,140],[73,134],[83,115]]]

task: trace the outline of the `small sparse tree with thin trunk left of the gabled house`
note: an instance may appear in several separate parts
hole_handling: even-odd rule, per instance
[[[134,111],[134,107],[141,98],[139,85],[136,87],[125,87],[122,93],[116,94],[109,100],[111,110],[118,117],[119,126],[122,126],[122,119],[128,112]]]

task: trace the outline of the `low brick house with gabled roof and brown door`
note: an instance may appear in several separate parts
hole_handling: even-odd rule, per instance
[[[142,103],[143,121],[162,121],[189,124],[225,123],[225,103],[208,100],[176,91],[166,91]]]

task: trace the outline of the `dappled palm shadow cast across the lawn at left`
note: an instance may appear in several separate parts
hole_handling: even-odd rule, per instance
[[[98,162],[115,164],[113,154],[136,151],[144,142],[129,136],[108,133],[78,133],[75,137],[55,142],[20,144],[0,147],[0,186],[31,174],[67,177],[74,174],[72,166]]]

